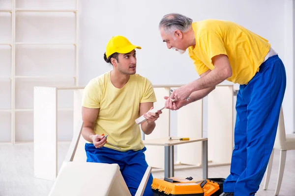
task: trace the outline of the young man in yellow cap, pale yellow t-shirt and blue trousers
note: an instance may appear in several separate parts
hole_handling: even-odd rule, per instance
[[[87,161],[117,163],[132,196],[148,168],[146,147],[135,119],[145,115],[147,121],[141,128],[145,134],[150,134],[162,113],[148,112],[156,98],[151,82],[136,74],[135,49],[141,47],[132,45],[123,36],[113,37],[104,54],[113,70],[91,79],[82,101],[82,135],[87,140]],[[150,174],[144,196],[153,195],[152,179]]]

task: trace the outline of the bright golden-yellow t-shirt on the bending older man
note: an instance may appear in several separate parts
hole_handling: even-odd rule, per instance
[[[270,49],[266,39],[233,22],[209,19],[193,23],[192,28],[196,45],[188,53],[199,75],[214,69],[212,57],[225,54],[232,67],[227,80],[247,84]]]

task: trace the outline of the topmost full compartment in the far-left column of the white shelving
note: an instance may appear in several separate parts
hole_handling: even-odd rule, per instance
[[[0,12],[0,29],[0,44],[11,43],[11,14],[9,12]]]

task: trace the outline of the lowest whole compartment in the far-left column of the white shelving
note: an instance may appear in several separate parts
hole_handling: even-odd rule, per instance
[[[0,112],[0,142],[11,142],[11,113]]]

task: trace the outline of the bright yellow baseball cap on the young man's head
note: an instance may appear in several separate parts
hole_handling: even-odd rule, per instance
[[[115,52],[126,54],[134,49],[141,49],[139,46],[132,45],[129,40],[121,35],[112,37],[107,44],[106,56],[109,58]]]

